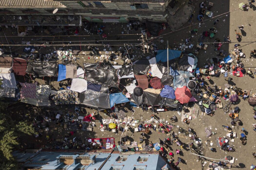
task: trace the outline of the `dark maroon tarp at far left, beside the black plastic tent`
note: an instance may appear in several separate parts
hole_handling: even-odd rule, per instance
[[[27,70],[27,60],[23,58],[13,58],[13,72],[16,75],[25,75]]]

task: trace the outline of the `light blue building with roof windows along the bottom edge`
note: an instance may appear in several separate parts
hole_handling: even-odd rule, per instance
[[[27,150],[15,151],[18,169],[47,170],[173,170],[174,168],[159,155],[158,151],[125,152],[95,150]]]

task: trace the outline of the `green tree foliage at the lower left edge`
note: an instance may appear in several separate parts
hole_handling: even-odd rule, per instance
[[[32,135],[35,130],[28,122],[16,122],[6,111],[7,103],[0,101],[0,169],[17,169],[16,160],[12,155],[18,149],[18,138]]]

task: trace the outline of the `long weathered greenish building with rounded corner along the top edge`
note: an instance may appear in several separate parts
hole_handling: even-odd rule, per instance
[[[194,6],[187,4],[186,0],[182,2],[184,3],[177,3],[177,0],[2,0],[0,15],[71,15],[90,22],[149,20],[168,22],[175,30],[187,22],[194,10]],[[52,14],[56,8],[58,11]]]

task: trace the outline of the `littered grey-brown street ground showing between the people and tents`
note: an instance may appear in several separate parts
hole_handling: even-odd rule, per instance
[[[242,59],[242,62],[244,63],[245,68],[251,68],[254,70],[254,68],[256,68],[255,65],[255,58],[250,59],[250,51],[255,49],[255,27],[256,27],[256,23],[253,22],[255,20],[255,9],[256,7],[253,5],[252,8],[249,8],[249,11],[242,11],[240,9],[238,9],[238,4],[241,2],[246,2],[245,0],[232,0],[232,1],[221,1],[221,0],[215,0],[214,1],[214,6],[212,7],[211,11],[214,12],[214,17],[213,19],[208,18],[207,16],[204,17],[204,22],[201,22],[200,24],[198,23],[198,20],[196,19],[196,16],[198,15],[198,11],[199,11],[199,3],[200,1],[193,1],[193,5],[196,7],[195,8],[195,18],[193,18],[191,25],[189,23],[187,23],[186,25],[184,25],[183,29],[180,29],[178,31],[172,32],[171,30],[169,30],[168,28],[162,33],[162,34],[166,34],[163,35],[161,39],[164,40],[164,43],[159,43],[157,40],[154,40],[153,42],[156,43],[158,45],[159,49],[163,49],[166,47],[166,40],[169,40],[169,45],[172,48],[175,48],[175,46],[179,46],[179,43],[184,43],[186,38],[188,38],[190,36],[189,31],[197,28],[198,29],[198,34],[193,37],[191,39],[191,42],[194,43],[194,45],[196,46],[196,43],[198,42],[198,38],[201,36],[201,33],[203,31],[207,31],[208,29],[210,29],[211,27],[213,27],[213,21],[215,19],[219,19],[220,22],[217,23],[215,25],[215,27],[217,28],[218,32],[216,33],[216,38],[219,38],[222,42],[224,41],[225,36],[230,35],[231,41],[232,43],[225,43],[222,45],[221,49],[225,49],[227,51],[233,50],[233,46],[234,44],[237,44],[237,40],[236,40],[236,35],[235,35],[235,29],[238,30],[237,26],[238,25],[244,25],[244,31],[241,32],[239,30],[239,32],[242,33],[242,41],[239,43],[241,45],[240,49],[243,50],[243,52],[246,54],[246,58]],[[229,12],[231,11],[231,12]],[[110,34],[122,34],[123,28],[126,28],[126,24],[106,24],[108,26],[106,26],[106,32],[110,33]],[[123,25],[123,28],[121,27],[121,25]],[[12,35],[12,32],[15,32],[15,29],[10,29],[12,31],[8,31],[7,29],[5,29],[5,33],[6,35]],[[80,32],[81,35],[88,35],[88,33],[82,33]],[[125,32],[127,33],[127,31]],[[134,32],[134,31],[129,31],[129,34],[140,34],[140,31]],[[3,35],[1,33],[1,35]],[[39,34],[40,35],[40,34]],[[137,40],[139,39],[140,35],[125,35],[125,36],[120,36],[120,40]],[[4,38],[4,37],[2,37]],[[37,37],[7,37],[8,40],[10,40],[11,38],[14,39],[14,41],[33,41],[32,39],[35,39]],[[52,39],[54,37],[51,37]],[[79,38],[83,38],[83,37],[79,37]],[[65,37],[62,39],[58,39],[56,40],[56,38],[54,39],[54,41],[63,41],[65,39],[65,41],[81,41],[79,40],[78,37]],[[98,35],[95,35],[93,37],[84,37],[87,38],[88,40],[92,40],[94,41],[95,39],[98,40],[103,40],[100,39],[100,37]],[[109,36],[106,40],[114,40],[114,38],[112,39],[112,36]],[[215,38],[209,39],[209,38],[205,38],[204,42],[213,42]],[[3,42],[5,40],[2,40]],[[125,43],[129,43],[131,41],[125,41]],[[141,41],[132,41],[132,43],[138,43]],[[77,43],[77,42],[76,42]],[[121,44],[124,43],[122,41],[120,42],[116,42],[116,44]],[[198,54],[198,67],[202,67],[204,66],[204,64],[206,63],[206,61],[212,57],[216,57],[216,53],[217,51],[214,51],[215,47],[211,44],[208,44],[208,49],[207,50],[201,50],[200,53]],[[118,46],[119,47],[119,46]],[[57,47],[58,48],[58,47]],[[74,46],[72,47],[72,49],[81,49],[81,50],[85,50],[87,47],[84,46]],[[101,48],[101,47],[100,47]],[[116,47],[117,48],[117,47]],[[21,47],[13,47],[12,51],[15,52],[19,52],[21,51],[23,48]],[[68,49],[68,48],[67,48]],[[44,51],[44,53],[48,53],[50,51],[53,50],[52,47],[47,47],[46,49],[40,49],[42,51]],[[39,52],[40,52],[39,50]],[[189,50],[188,50],[189,51]],[[193,50],[192,50],[193,51]],[[83,62],[88,62],[87,58],[85,58],[85,60]],[[237,64],[236,62],[234,62],[233,64]],[[231,86],[237,86],[240,87],[242,89],[246,89],[246,90],[251,90],[251,93],[255,93],[256,89],[255,89],[255,77],[254,76],[244,76],[244,77],[235,77],[232,76],[233,80],[232,82],[230,82]],[[213,82],[215,82],[218,86],[221,86],[222,88],[224,87],[224,84],[227,83],[224,80],[223,74],[219,77],[211,77],[211,80]],[[213,84],[213,82],[209,82],[206,81],[209,85]],[[43,82],[42,82],[43,83]],[[208,85],[206,84],[206,85]],[[224,103],[223,99],[222,102]],[[16,111],[20,111],[22,110],[23,112],[27,112],[28,110],[26,110],[26,108],[24,108],[26,104],[25,103],[17,103],[17,104],[13,104],[11,105],[8,110],[11,112],[14,112],[13,114],[15,115]],[[253,131],[253,129],[251,128],[251,124],[255,123],[255,120],[253,119],[253,110],[252,107],[249,106],[247,101],[242,100],[241,98],[239,99],[238,102],[236,102],[234,105],[232,104],[232,108],[238,106],[240,108],[240,113],[239,113],[239,119],[243,122],[243,127],[248,131],[248,135],[247,135],[247,144],[245,146],[243,146],[240,143],[239,137],[240,137],[240,131],[242,126],[234,126],[232,127],[233,131],[237,133],[237,138],[235,138],[234,142],[230,142],[232,145],[234,145],[234,148],[236,149],[236,152],[224,152],[223,150],[220,149],[220,147],[217,146],[217,138],[218,137],[226,137],[226,133],[227,131],[224,130],[224,128],[222,127],[222,125],[226,125],[229,124],[230,125],[230,118],[228,117],[228,114],[225,113],[222,109],[217,109],[215,111],[215,116],[210,117],[208,115],[205,114],[201,114],[201,111],[199,111],[198,117],[197,115],[195,115],[193,117],[193,119],[191,120],[191,123],[189,125],[184,124],[181,120],[181,116],[177,114],[177,111],[168,111],[168,112],[159,112],[157,114],[157,116],[159,116],[160,119],[166,121],[168,120],[171,116],[176,115],[178,117],[178,122],[174,123],[174,125],[182,127],[183,129],[187,130],[188,127],[191,127],[195,130],[195,132],[197,133],[197,136],[199,138],[201,138],[202,140],[202,148],[203,150],[201,151],[201,154],[203,154],[204,156],[208,157],[208,158],[212,158],[212,159],[202,159],[199,160],[198,157],[196,155],[193,155],[191,153],[193,153],[193,151],[186,151],[186,150],[182,150],[184,155],[181,156],[181,158],[183,158],[186,163],[180,163],[179,167],[181,169],[207,169],[208,164],[210,163],[210,161],[214,161],[214,159],[223,159],[225,156],[227,155],[231,155],[233,157],[235,157],[235,161],[233,164],[232,169],[249,169],[251,164],[255,164],[255,159],[252,156],[252,152],[255,151],[255,138],[253,137],[255,135],[255,132]],[[198,106],[195,105],[195,112],[198,110]],[[192,107],[192,110],[194,110],[194,107]],[[58,106],[55,108],[41,108],[39,109],[38,113],[40,114],[44,114],[46,110],[61,110],[63,113],[67,112],[68,110],[71,110],[72,112],[74,112],[74,106]],[[133,117],[137,120],[141,119],[141,115],[143,117],[143,120],[149,120],[150,119],[150,115],[152,114],[151,111],[147,112],[142,112],[141,108],[134,108],[135,113],[133,115]],[[31,111],[33,112],[33,110]],[[87,110],[87,112],[92,112],[92,110]],[[38,114],[35,113],[35,114]],[[101,116],[104,118],[105,115],[100,112]],[[127,116],[131,116],[133,113],[128,112]],[[142,121],[142,120],[141,120]],[[75,136],[80,136],[81,138],[83,138],[84,140],[87,137],[114,137],[116,142],[120,141],[120,136],[121,133],[117,133],[114,134],[112,132],[101,132],[100,131],[100,126],[99,123],[96,123],[97,127],[94,128],[93,132],[81,132],[78,131]],[[56,125],[54,123],[52,123],[51,127],[54,128]],[[204,132],[205,127],[209,127],[211,128],[212,132],[214,132],[214,135],[212,135],[210,138],[206,138],[206,134]],[[178,128],[174,128],[175,133],[178,133]],[[63,139],[64,134],[68,133],[69,129],[67,130],[58,130],[52,133],[52,135],[58,139]],[[49,132],[51,133],[51,132]],[[46,135],[46,134],[44,134]],[[139,137],[140,137],[140,133],[132,133],[130,131],[125,132],[123,135],[129,135],[131,136],[131,138],[134,139],[134,141],[139,141]],[[182,142],[184,143],[189,143],[189,139],[186,135],[182,134],[182,133],[178,133],[179,138]],[[155,132],[152,131],[152,135],[150,135],[150,138],[148,138],[145,142],[148,143],[150,141],[152,141],[153,143],[158,142],[159,139],[161,138],[162,140],[166,137],[166,135],[164,135],[163,133],[159,133],[159,132]],[[25,145],[30,146],[30,147],[40,147],[42,144],[45,143],[45,136],[40,138],[40,139],[34,139],[33,138],[33,142],[27,141],[25,143]],[[31,142],[31,143],[30,143]],[[209,147],[209,143],[213,142],[213,147],[216,148],[216,152],[212,152],[208,149]],[[33,146],[32,143],[34,143]],[[176,145],[172,145],[171,146],[172,149],[175,152],[175,149],[178,149],[178,147]],[[174,156],[175,161],[177,160],[177,155]]]

